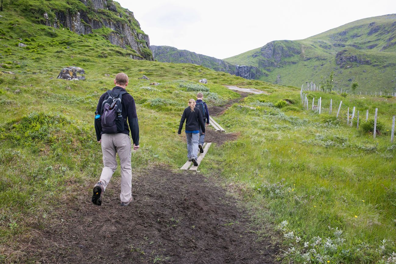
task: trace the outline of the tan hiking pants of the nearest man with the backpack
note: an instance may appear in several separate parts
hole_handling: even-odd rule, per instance
[[[132,168],[131,168],[131,139],[124,133],[102,135],[103,170],[100,182],[106,190],[114,171],[117,169],[116,153],[121,163],[121,193],[123,202],[129,201],[132,192]]]

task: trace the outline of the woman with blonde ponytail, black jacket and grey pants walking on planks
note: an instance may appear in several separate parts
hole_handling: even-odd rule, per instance
[[[187,158],[189,161],[192,161],[195,166],[198,166],[196,160],[198,154],[199,131],[201,126],[202,133],[205,133],[205,122],[202,118],[201,111],[195,107],[194,99],[188,101],[188,107],[181,116],[179,131],[177,132],[179,135],[181,134],[184,121],[186,121]]]

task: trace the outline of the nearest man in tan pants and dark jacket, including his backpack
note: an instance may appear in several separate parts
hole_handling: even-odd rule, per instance
[[[93,188],[92,203],[96,205],[102,204],[103,192],[117,169],[116,154],[118,153],[121,165],[120,199],[121,205],[126,206],[133,201],[129,129],[133,140],[133,150],[137,150],[139,148],[139,124],[137,122],[135,100],[125,90],[128,85],[128,76],[120,72],[116,75],[114,84],[116,86],[111,91],[107,91],[100,97],[95,112],[96,139],[102,145],[104,167],[99,182]],[[114,100],[112,100],[112,97],[109,98],[109,96],[114,97]],[[119,104],[120,97],[121,107],[116,104]],[[109,101],[111,102],[109,103]],[[112,104],[112,106],[109,106],[109,104]],[[114,109],[112,120],[111,109]],[[116,110],[118,112],[115,112]]]

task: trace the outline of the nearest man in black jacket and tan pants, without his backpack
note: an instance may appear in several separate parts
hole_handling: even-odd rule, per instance
[[[114,84],[116,86],[112,89],[112,92],[126,92],[125,87],[128,85],[128,76],[125,73],[120,72],[116,75]],[[108,97],[109,93],[104,93],[100,97],[96,108],[98,114],[102,114],[102,104],[108,99]],[[106,190],[107,184],[109,184],[114,171],[117,169],[117,153],[120,158],[121,165],[121,205],[126,206],[133,201],[131,192],[131,139],[129,137],[128,123],[133,140],[133,150],[137,150],[139,148],[139,124],[137,121],[135,100],[133,100],[133,97],[129,95],[129,93],[124,93],[122,95],[121,102],[122,118],[124,119],[124,129],[122,131],[117,131],[117,133],[112,134],[103,133],[99,121],[100,119],[95,119],[96,139],[102,145],[104,166],[100,180],[93,188],[92,203],[96,205],[102,204],[103,192]]]

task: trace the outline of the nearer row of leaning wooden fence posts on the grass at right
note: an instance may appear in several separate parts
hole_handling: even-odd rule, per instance
[[[315,99],[315,97],[313,97],[312,102],[309,102],[307,93],[303,93],[303,91],[307,91],[307,89],[308,89],[308,91],[320,91],[320,86],[316,87],[316,85],[312,82],[311,82],[310,86],[308,84],[308,86],[305,90],[304,90],[304,87],[301,86],[301,91],[300,91],[301,103],[303,104],[303,106],[306,110],[317,111],[319,114],[321,114],[324,110],[326,110],[326,112],[328,111],[329,114],[335,113],[335,111],[333,111],[333,103],[334,103],[333,99],[330,99],[328,108],[324,108],[324,107],[322,107],[322,97],[319,97],[316,99]],[[395,95],[392,94],[392,96],[395,96]],[[315,104],[315,100],[316,100],[316,104]],[[365,113],[362,112],[362,114],[365,114],[365,115],[361,116],[360,110],[358,110],[356,108],[356,106],[353,106],[353,107],[347,106],[341,100],[338,104],[338,108],[336,108],[336,109],[337,109],[336,118],[343,118],[343,116],[344,116],[345,120],[346,120],[346,124],[351,127],[356,125],[356,129],[359,129],[359,123],[362,122],[362,119],[364,119],[364,121],[367,121],[369,119],[370,113],[369,113],[368,109],[366,109]],[[374,139],[377,136],[377,134],[379,133],[379,131],[377,131],[377,119],[378,119],[378,108],[375,108],[374,127],[373,127],[373,138]],[[394,140],[394,129],[395,129],[395,116],[393,115],[392,116],[392,128],[391,128],[391,134],[390,134],[390,142],[392,142],[392,143]]]

